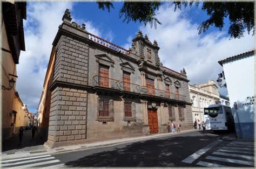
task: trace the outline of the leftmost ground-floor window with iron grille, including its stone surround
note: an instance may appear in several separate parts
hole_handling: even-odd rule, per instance
[[[114,101],[107,97],[98,98],[98,121],[114,120]]]

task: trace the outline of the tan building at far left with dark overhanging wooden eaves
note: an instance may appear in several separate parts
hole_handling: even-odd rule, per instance
[[[2,2],[2,138],[6,140],[14,133],[17,105],[20,98],[16,95],[16,86],[9,88],[9,83],[17,81],[16,64],[19,53],[25,51],[23,19],[26,19],[25,2]],[[17,112],[17,113],[16,113]],[[23,114],[23,112],[21,112]],[[23,124],[21,124],[23,125]],[[16,131],[15,131],[16,132]]]

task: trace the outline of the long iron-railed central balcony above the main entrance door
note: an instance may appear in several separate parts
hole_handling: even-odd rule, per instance
[[[143,95],[164,97],[164,98],[169,98],[172,100],[178,100],[178,101],[184,101],[184,102],[186,101],[184,95],[170,93],[165,90],[154,89],[154,88],[142,86],[142,87],[140,87],[140,91],[141,91],[141,94],[143,94]]]

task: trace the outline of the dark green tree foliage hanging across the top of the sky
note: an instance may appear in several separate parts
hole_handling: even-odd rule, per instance
[[[111,2],[97,2],[99,9],[114,8]],[[174,11],[184,6],[192,7],[195,4],[199,6],[199,2],[170,2],[174,5]],[[129,23],[130,21],[151,24],[151,28],[157,28],[157,24],[161,24],[156,18],[156,12],[159,9],[160,2],[124,2],[119,11],[119,18],[124,17],[123,22]],[[201,10],[206,11],[209,16],[198,27],[198,34],[207,31],[211,26],[218,27],[219,30],[224,26],[224,18],[230,20],[230,27],[228,34],[230,38],[241,38],[244,36],[244,31],[247,30],[248,34],[252,31],[254,35],[254,2],[204,2]]]

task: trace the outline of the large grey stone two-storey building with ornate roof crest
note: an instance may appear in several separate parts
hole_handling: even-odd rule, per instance
[[[39,103],[49,116],[45,145],[165,133],[171,120],[192,128],[186,71],[161,65],[156,41],[139,31],[125,50],[71,19],[66,10]]]

